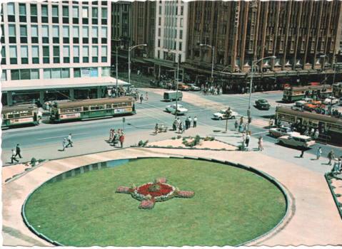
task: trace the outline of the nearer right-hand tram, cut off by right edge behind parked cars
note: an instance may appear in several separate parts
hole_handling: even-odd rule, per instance
[[[306,112],[296,107],[276,107],[276,124],[291,126],[297,132],[304,132],[306,129],[318,129],[318,141],[337,144],[342,146],[342,118],[339,115],[322,115],[315,112]]]

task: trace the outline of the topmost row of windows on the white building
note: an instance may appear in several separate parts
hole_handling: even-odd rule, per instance
[[[21,3],[19,4],[19,22],[26,23],[26,17],[30,17],[31,23],[38,23],[38,9],[39,6],[37,4],[30,4],[29,5],[29,14],[26,14],[26,4]],[[1,8],[2,9],[2,8]],[[101,18],[101,24],[107,25],[107,17],[108,17],[108,8],[99,8],[99,7],[88,7],[88,6],[72,6],[71,8],[72,16],[69,15],[69,6],[62,6],[61,9],[61,16],[62,16],[62,23],[69,23],[69,17],[72,19],[72,23],[79,24],[79,18],[81,18],[83,24],[89,24],[89,18],[91,18],[92,24],[99,24],[99,18]],[[89,10],[90,9],[90,10]],[[41,22],[42,23],[49,23],[49,6],[45,4],[41,4],[40,6],[41,11]],[[81,11],[81,16],[79,11]],[[91,11],[91,16],[89,14]],[[99,15],[99,11],[101,11],[101,16]],[[51,22],[52,23],[59,23],[59,6],[52,5],[51,6]],[[1,12],[1,16],[3,12]],[[16,11],[14,3],[7,4],[7,18],[9,22],[16,21]]]

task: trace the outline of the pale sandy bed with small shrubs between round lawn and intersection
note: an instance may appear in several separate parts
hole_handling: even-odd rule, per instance
[[[187,139],[188,142],[190,142],[192,139]],[[153,147],[154,145],[156,146],[161,146],[161,147],[168,147],[168,146],[172,146],[172,147],[183,147],[183,148],[190,148],[190,147],[186,147],[185,144],[182,144],[183,139],[168,139],[168,140],[164,140],[164,141],[158,141],[158,142],[151,142],[148,143],[146,146],[149,147]],[[210,149],[237,149],[237,147],[233,146],[233,145],[229,145],[229,144],[225,144],[223,142],[219,142],[216,140],[213,141],[203,141],[201,139],[201,142],[199,145],[194,146],[194,148],[198,148],[198,149],[204,149],[204,148],[210,148]]]

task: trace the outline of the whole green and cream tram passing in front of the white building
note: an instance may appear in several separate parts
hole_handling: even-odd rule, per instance
[[[47,105],[50,106],[50,122],[52,123],[136,114],[134,97],[64,100],[47,103]]]

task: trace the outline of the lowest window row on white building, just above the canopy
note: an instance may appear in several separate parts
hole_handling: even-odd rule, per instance
[[[101,68],[101,77],[110,75],[109,67]],[[99,77],[99,68],[74,68],[74,78]],[[43,79],[71,78],[70,68],[44,68]],[[39,69],[12,69],[11,80],[39,80]],[[7,70],[1,73],[1,80],[7,80]]]

